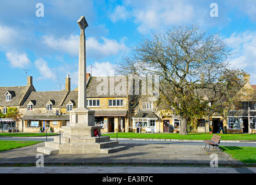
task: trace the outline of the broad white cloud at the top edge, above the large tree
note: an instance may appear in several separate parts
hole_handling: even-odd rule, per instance
[[[127,10],[129,6],[129,9]],[[147,34],[151,29],[159,31],[174,24],[202,22],[201,17],[207,11],[200,10],[201,16],[198,16],[196,5],[187,0],[147,0],[147,1],[125,1],[124,5],[118,5],[111,14],[113,22],[117,20],[127,20],[134,18],[138,24],[138,31]],[[196,16],[196,17],[195,17]]]

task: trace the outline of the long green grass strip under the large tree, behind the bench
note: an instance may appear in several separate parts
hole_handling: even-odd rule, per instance
[[[117,134],[103,134],[116,138]],[[138,134],[133,132],[119,132],[118,138],[138,138],[138,139],[191,139],[207,140],[211,139],[213,134],[189,133],[188,135],[179,134]],[[256,134],[216,134],[221,136],[221,140],[256,140]]]

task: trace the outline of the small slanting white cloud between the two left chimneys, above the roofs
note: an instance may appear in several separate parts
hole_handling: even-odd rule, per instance
[[[52,69],[49,68],[47,62],[42,58],[35,61],[35,67],[39,70],[42,79],[56,80],[56,75],[53,73]]]

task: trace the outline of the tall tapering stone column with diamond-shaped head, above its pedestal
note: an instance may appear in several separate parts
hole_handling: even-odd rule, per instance
[[[78,71],[78,108],[86,108],[86,45],[85,28],[88,24],[84,16],[77,21],[80,26],[79,71]]]

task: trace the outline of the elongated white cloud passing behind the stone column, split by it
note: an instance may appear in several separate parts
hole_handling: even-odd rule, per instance
[[[43,36],[43,42],[50,48],[64,53],[78,56],[79,54],[79,36],[71,35],[69,38],[55,39],[53,36]],[[127,51],[127,47],[122,42],[117,40],[102,38],[103,43],[100,43],[96,38],[89,37],[86,40],[86,54],[94,58],[102,58],[111,55],[116,55],[120,51]]]

